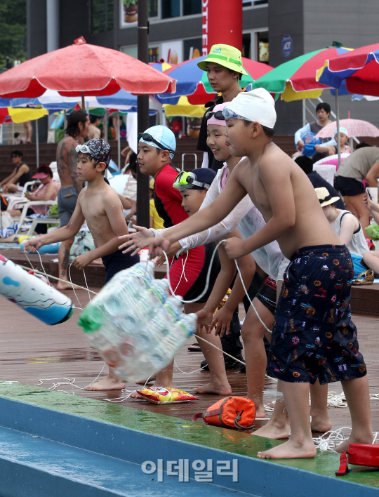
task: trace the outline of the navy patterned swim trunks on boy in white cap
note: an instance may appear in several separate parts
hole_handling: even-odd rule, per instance
[[[361,378],[366,364],[351,319],[354,267],[345,245],[300,248],[284,273],[268,376],[321,385]]]

